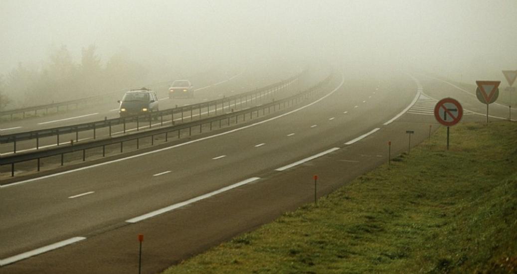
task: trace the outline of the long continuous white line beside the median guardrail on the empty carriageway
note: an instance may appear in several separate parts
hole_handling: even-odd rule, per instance
[[[55,176],[59,176],[59,175],[63,175],[63,174],[68,174],[68,173],[72,173],[72,172],[76,172],[76,171],[92,169],[92,168],[96,168],[97,166],[101,166],[101,165],[111,164],[111,163],[125,161],[125,160],[132,159],[132,158],[146,156],[146,155],[149,155],[149,154],[159,153],[161,151],[173,149],[173,148],[180,147],[180,146],[189,145],[189,144],[192,144],[192,143],[201,142],[201,141],[204,141],[204,140],[216,138],[216,137],[219,137],[219,136],[222,136],[222,135],[231,134],[233,132],[237,132],[237,131],[240,131],[240,130],[251,128],[251,127],[254,127],[254,126],[257,126],[257,125],[262,125],[262,124],[267,123],[269,121],[276,120],[278,118],[281,118],[281,117],[290,115],[292,113],[298,112],[298,111],[300,111],[302,109],[308,108],[309,106],[311,106],[311,105],[313,105],[315,103],[318,103],[318,102],[322,101],[323,99],[329,97],[330,95],[335,93],[338,89],[340,89],[343,86],[344,82],[345,82],[345,78],[344,78],[343,75],[341,75],[341,83],[338,85],[338,87],[334,88],[331,92],[329,92],[325,96],[321,97],[320,99],[317,99],[317,100],[315,100],[312,103],[308,103],[306,105],[302,105],[298,109],[294,109],[292,111],[280,114],[278,116],[271,117],[269,119],[258,121],[257,123],[254,123],[254,124],[250,124],[250,125],[246,125],[246,126],[243,126],[243,127],[240,127],[240,128],[229,130],[229,131],[225,131],[225,132],[221,132],[221,133],[218,133],[218,134],[206,136],[206,137],[203,137],[203,138],[200,138],[200,139],[191,140],[191,141],[188,141],[188,142],[185,142],[185,143],[181,143],[181,144],[177,144],[177,145],[172,145],[172,146],[168,146],[168,147],[164,147],[164,148],[160,148],[160,149],[156,149],[156,150],[147,151],[147,152],[144,152],[144,153],[141,153],[141,154],[136,154],[136,155],[132,155],[132,156],[124,157],[124,158],[119,158],[119,159],[112,160],[112,161],[102,162],[102,163],[98,163],[98,164],[83,166],[82,168],[79,168],[79,169],[74,169],[74,170],[54,173],[54,174],[50,174],[50,175],[46,175],[46,176],[41,176],[41,177],[37,177],[37,178],[32,178],[32,179],[27,179],[27,180],[18,181],[18,182],[13,182],[12,184],[9,184],[9,185],[0,185],[0,188],[17,186],[17,185],[25,184],[27,182],[32,182],[32,181],[37,181],[37,180],[41,180],[41,179],[51,178],[51,177],[55,177]]]

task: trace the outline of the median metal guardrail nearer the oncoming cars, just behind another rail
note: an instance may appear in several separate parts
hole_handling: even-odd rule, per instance
[[[298,75],[295,75],[289,79],[273,83],[271,85],[250,90],[249,92],[237,94],[229,97],[224,97],[222,99],[216,99],[211,100],[208,102],[202,102],[197,104],[192,104],[188,106],[180,106],[179,108],[173,108],[158,112],[151,112],[149,114],[144,115],[134,115],[134,116],[128,116],[128,117],[121,117],[121,118],[112,118],[112,119],[104,119],[100,121],[94,121],[89,123],[83,123],[83,124],[77,124],[77,125],[71,125],[71,126],[63,126],[63,127],[55,127],[55,128],[49,128],[49,129],[41,129],[41,130],[33,130],[33,131],[26,131],[26,132],[19,132],[19,133],[12,133],[12,134],[6,134],[6,135],[0,135],[0,144],[7,144],[7,143],[13,143],[13,153],[16,153],[16,143],[19,141],[25,141],[25,140],[32,140],[36,139],[36,149],[39,149],[39,139],[49,136],[56,136],[56,144],[59,145],[59,135],[67,134],[67,133],[75,133],[75,140],[76,142],[79,141],[79,132],[81,131],[87,131],[87,130],[93,130],[94,131],[94,139],[96,138],[96,130],[101,128],[109,128],[110,130],[110,136],[111,136],[111,127],[116,125],[124,125],[124,133],[126,133],[126,124],[131,122],[136,122],[137,124],[140,121],[151,121],[152,119],[157,119],[158,117],[163,123],[163,116],[170,115],[172,117],[172,120],[174,120],[174,116],[178,117],[180,115],[182,117],[183,121],[183,113],[186,111],[191,112],[194,109],[199,109],[201,113],[202,108],[206,108],[208,114],[210,113],[210,106],[214,106],[215,108],[215,114],[217,114],[217,105],[222,105],[223,111],[224,106],[226,103],[230,105],[231,101],[236,101],[237,99],[245,98],[247,100],[248,96],[255,95],[255,98],[257,94],[265,93],[269,89],[275,89],[278,87],[284,87],[286,84],[293,83],[294,81],[297,81],[298,78],[304,73],[305,71],[301,72]],[[230,107],[230,106],[229,106]],[[212,109],[214,110],[214,109]],[[137,125],[137,128],[139,126]]]

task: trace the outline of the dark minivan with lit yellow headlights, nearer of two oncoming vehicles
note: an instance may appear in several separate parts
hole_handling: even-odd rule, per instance
[[[117,102],[120,103],[118,109],[120,117],[158,111],[158,97],[156,93],[145,87],[129,90],[129,92],[124,94],[122,100]]]

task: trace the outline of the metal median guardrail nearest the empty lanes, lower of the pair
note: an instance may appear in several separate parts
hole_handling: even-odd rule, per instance
[[[304,90],[303,92],[300,92],[296,95],[280,99],[280,100],[273,100],[270,103],[260,105],[260,106],[254,106],[249,109],[240,110],[236,112],[231,113],[225,113],[218,116],[208,117],[201,120],[191,121],[185,124],[179,124],[179,125],[172,125],[172,126],[166,126],[154,130],[147,130],[142,131],[138,133],[128,134],[128,135],[121,135],[117,136],[115,138],[107,138],[103,140],[93,141],[93,142],[86,142],[86,143],[79,143],[79,144],[71,144],[68,146],[60,146],[53,149],[48,150],[38,150],[34,153],[27,153],[27,154],[17,154],[12,155],[6,158],[0,158],[0,165],[11,165],[11,177],[14,177],[14,164],[25,162],[25,161],[31,161],[31,160],[37,160],[37,171],[40,171],[40,161],[41,158],[46,157],[52,157],[52,156],[61,156],[61,165],[64,165],[64,156],[65,154],[74,153],[78,151],[82,151],[83,153],[83,161],[86,160],[86,150],[92,149],[92,148],[99,148],[102,147],[102,157],[105,156],[105,147],[108,145],[115,145],[120,144],[120,153],[123,153],[124,149],[124,142],[128,141],[134,141],[136,140],[136,149],[139,149],[139,140],[142,138],[151,138],[151,145],[154,145],[155,136],[159,134],[164,134],[165,141],[168,142],[169,139],[169,133],[177,131],[178,138],[180,138],[181,130],[189,130],[189,136],[192,134],[192,128],[193,127],[199,127],[200,133],[202,133],[203,125],[210,124],[210,130],[212,130],[212,124],[214,122],[219,121],[219,127],[221,127],[221,121],[227,120],[227,125],[230,125],[230,121],[232,119],[235,119],[235,123],[238,123],[239,117],[242,116],[242,121],[246,121],[246,116],[249,115],[250,119],[253,118],[253,115],[256,113],[255,117],[258,117],[260,115],[260,111],[262,110],[262,115],[268,115],[271,113],[271,108],[273,108],[273,112],[278,110],[281,110],[282,108],[285,109],[289,106],[294,105],[295,103],[303,100],[304,98],[307,98],[311,93],[315,93],[318,91],[320,87],[323,85],[329,83],[332,79],[333,75],[329,75],[325,80],[317,83],[316,85]],[[287,104],[287,106],[286,106]],[[266,109],[268,112],[266,113]]]

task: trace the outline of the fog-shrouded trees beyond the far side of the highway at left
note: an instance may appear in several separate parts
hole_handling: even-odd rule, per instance
[[[63,45],[49,54],[40,68],[19,64],[0,75],[0,110],[62,102],[114,92],[142,82],[147,70],[128,54],[119,52],[105,64],[95,45],[82,49],[74,62]]]

